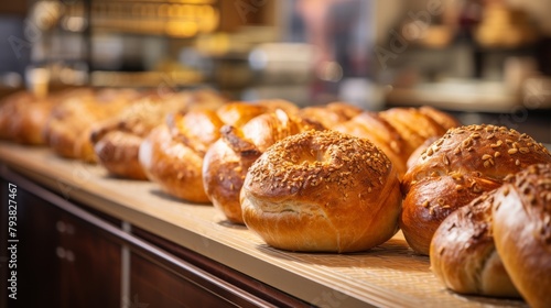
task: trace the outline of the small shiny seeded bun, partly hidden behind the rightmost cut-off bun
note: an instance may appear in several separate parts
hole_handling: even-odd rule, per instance
[[[494,244],[494,205],[493,191],[485,193],[440,224],[431,242],[431,270],[460,294],[520,297]]]

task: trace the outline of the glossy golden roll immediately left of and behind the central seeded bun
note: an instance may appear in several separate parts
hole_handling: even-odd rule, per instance
[[[244,223],[239,193],[249,167],[277,141],[312,129],[324,128],[281,109],[260,114],[242,128],[225,125],[203,164],[203,184],[213,205],[229,221]]]

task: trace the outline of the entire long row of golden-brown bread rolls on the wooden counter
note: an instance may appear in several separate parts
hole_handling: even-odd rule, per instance
[[[222,105],[208,95],[166,100],[90,89],[13,100],[0,107],[9,138],[47,142],[60,155],[88,161],[94,148],[110,173],[212,201],[272,246],[363,251],[401,228],[458,293],[520,294],[534,307],[550,300],[551,173],[534,164],[550,164],[551,154],[517,131],[452,129],[455,119],[428,107],[299,109],[281,100]],[[39,101],[42,116],[29,116]],[[210,103],[190,108],[190,101]],[[114,103],[96,111],[106,102]],[[35,131],[44,123],[47,133],[18,138],[12,119]],[[94,146],[78,150],[86,140]]]

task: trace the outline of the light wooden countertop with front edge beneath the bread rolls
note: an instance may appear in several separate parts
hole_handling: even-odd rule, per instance
[[[292,253],[272,249],[210,205],[163,194],[149,182],[109,177],[99,166],[47,148],[0,142],[0,161],[68,200],[84,202],[196,251],[313,305],[325,307],[525,307],[520,300],[461,296],[433,276],[429,257],[401,232],[363,253]]]

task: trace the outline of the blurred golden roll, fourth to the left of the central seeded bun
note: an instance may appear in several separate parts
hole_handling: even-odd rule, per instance
[[[90,141],[94,125],[116,117],[142,96],[133,89],[83,88],[69,92],[55,106],[45,124],[47,145],[60,156],[96,162]]]

